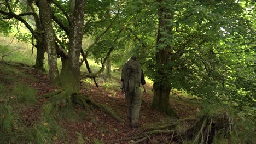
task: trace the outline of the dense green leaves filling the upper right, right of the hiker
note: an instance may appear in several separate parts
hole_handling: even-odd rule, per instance
[[[154,82],[184,89],[210,103],[232,101],[239,109],[252,106],[255,7],[253,2],[245,2],[131,1],[127,7],[131,15],[127,13],[126,20],[134,21],[129,26],[140,40],[136,39],[132,49],[138,50],[145,73]],[[157,16],[161,8],[166,12]],[[156,31],[149,29],[157,29],[159,17],[164,24],[158,28],[161,38],[155,49]],[[170,59],[156,65],[155,57],[161,57],[156,52],[163,49]]]

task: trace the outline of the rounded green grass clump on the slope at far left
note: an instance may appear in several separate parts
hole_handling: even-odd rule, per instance
[[[21,103],[34,104],[37,101],[35,89],[21,83],[13,88],[13,94]]]

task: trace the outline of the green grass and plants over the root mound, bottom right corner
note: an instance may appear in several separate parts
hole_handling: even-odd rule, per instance
[[[226,131],[220,133],[221,130],[216,131],[213,143],[225,142],[227,139],[231,143],[253,143],[255,122],[249,118],[251,115],[248,114],[250,113],[232,109],[229,105],[206,104],[202,109],[201,117],[207,115],[213,118],[214,129],[229,128],[228,133]],[[211,129],[213,128],[211,127]]]

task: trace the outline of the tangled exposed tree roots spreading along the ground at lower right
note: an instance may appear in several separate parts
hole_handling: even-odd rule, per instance
[[[136,137],[127,137],[122,140],[152,141],[149,136],[154,136],[159,142],[164,143],[212,143],[213,139],[229,139],[233,131],[235,119],[227,112],[206,113],[195,119],[179,119],[169,124],[160,125],[144,130]],[[158,142],[154,142],[158,143]]]

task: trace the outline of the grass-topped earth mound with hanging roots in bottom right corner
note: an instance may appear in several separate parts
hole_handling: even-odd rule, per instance
[[[255,123],[245,112],[229,105],[205,105],[200,117],[185,132],[191,143],[253,143]]]

